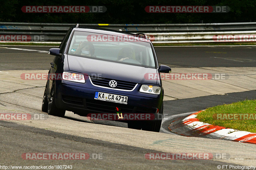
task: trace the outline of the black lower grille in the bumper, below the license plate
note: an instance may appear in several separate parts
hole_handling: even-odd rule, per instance
[[[86,106],[90,110],[95,110],[104,113],[115,113],[116,107],[118,107],[122,113],[156,113],[155,108],[132,107],[129,105],[101,100],[86,99]]]

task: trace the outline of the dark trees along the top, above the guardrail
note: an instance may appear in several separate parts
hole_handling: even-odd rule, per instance
[[[256,0],[0,0],[0,22],[171,24],[255,22]],[[23,13],[27,5],[104,5],[105,13]],[[148,5],[224,5],[228,13],[147,13]]]

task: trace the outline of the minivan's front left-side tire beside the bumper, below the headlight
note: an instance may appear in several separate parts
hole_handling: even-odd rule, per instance
[[[59,109],[55,105],[55,82],[52,83],[52,89],[48,100],[48,115],[64,117],[66,110]]]

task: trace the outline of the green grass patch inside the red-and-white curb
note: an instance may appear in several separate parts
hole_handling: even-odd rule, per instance
[[[256,114],[256,100],[244,100],[228,105],[224,104],[215,107],[210,107],[197,115],[197,118],[199,119],[200,122],[256,133],[256,120],[216,120],[216,114],[223,113]]]

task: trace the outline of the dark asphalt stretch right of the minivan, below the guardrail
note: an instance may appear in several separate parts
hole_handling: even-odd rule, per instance
[[[172,67],[255,67],[256,46],[156,47],[159,63]]]

